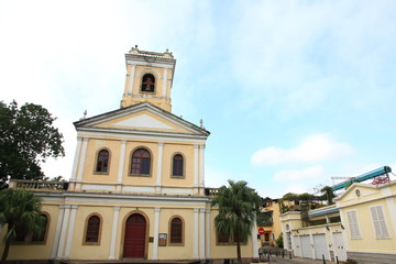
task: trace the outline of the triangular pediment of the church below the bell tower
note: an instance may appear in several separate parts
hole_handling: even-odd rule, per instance
[[[75,122],[75,125],[77,129],[94,128],[209,135],[209,132],[204,128],[199,128],[147,102],[80,120]]]

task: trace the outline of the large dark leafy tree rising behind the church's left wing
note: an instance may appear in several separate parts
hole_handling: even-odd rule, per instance
[[[63,135],[54,128],[55,118],[42,106],[0,101],[0,189],[7,180],[41,179],[41,163],[64,156]]]

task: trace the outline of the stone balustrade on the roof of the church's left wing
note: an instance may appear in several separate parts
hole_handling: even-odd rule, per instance
[[[25,179],[11,179],[10,188],[14,189],[29,189],[29,190],[67,190],[67,182],[45,182],[45,180],[25,180]]]

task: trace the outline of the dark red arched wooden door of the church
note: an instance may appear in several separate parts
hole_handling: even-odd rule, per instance
[[[142,215],[130,216],[125,223],[123,257],[144,258],[146,222]]]

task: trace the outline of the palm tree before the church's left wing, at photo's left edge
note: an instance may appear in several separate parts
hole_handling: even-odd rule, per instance
[[[32,193],[22,189],[4,189],[0,191],[0,224],[6,227],[4,251],[1,264],[4,264],[10,243],[15,240],[18,231],[32,234],[43,232],[45,219],[40,213],[40,199]]]

